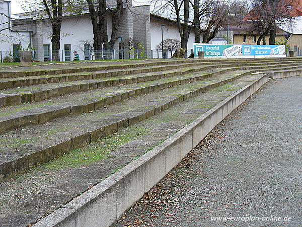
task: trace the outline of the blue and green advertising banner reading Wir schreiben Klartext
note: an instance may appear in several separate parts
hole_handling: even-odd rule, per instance
[[[198,58],[198,51],[204,51],[205,57],[214,56],[260,56],[260,55],[284,55],[285,45],[216,45],[194,43],[194,58]]]

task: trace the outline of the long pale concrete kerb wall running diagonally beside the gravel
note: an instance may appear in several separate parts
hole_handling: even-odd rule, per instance
[[[215,127],[215,124],[225,117],[226,113],[230,113],[240,105],[240,101],[252,95],[268,81],[268,78],[268,74],[264,74],[251,82],[168,140],[63,206],[73,211],[64,213],[61,210],[63,208],[58,209],[34,226],[109,226],[113,224],[144,192],[153,187],[179,163]],[[224,111],[226,112],[223,113]],[[103,210],[105,213],[108,210],[111,212],[108,215],[101,215]],[[99,215],[94,215],[97,212]],[[57,218],[56,221],[54,221],[55,218]],[[66,223],[65,220],[69,218],[71,222]]]

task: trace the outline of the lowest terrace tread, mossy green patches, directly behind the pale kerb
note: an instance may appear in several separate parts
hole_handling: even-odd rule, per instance
[[[190,124],[210,108],[209,103],[211,106],[219,103],[251,80],[252,76],[245,76],[202,93],[117,134],[0,183],[0,204],[6,205],[0,206],[0,223],[6,226],[35,223]]]

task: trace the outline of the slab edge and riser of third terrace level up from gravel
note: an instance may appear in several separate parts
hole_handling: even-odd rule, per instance
[[[233,71],[232,69],[217,69],[202,74],[184,75],[168,79],[149,81],[143,84],[134,84],[132,86],[124,85],[112,89],[101,89],[97,93],[89,93],[80,99],[72,99],[69,102],[64,101],[60,104],[50,104],[31,109],[15,112],[13,115],[3,115],[0,117],[0,132],[4,132],[16,127],[23,127],[33,124],[42,124],[49,120],[68,115],[79,115],[83,112],[93,111],[112,103],[125,100],[135,95],[146,94],[156,90],[177,86],[180,84],[191,83],[203,80],[215,75]],[[239,75],[246,75],[251,71],[238,72]],[[236,75],[236,73],[234,73]],[[237,74],[237,75],[238,75]],[[73,98],[73,96],[69,96]],[[66,100],[66,99],[64,99]]]

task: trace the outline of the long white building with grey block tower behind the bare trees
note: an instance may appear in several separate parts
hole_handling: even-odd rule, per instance
[[[127,0],[128,1],[128,0]],[[0,0],[0,13],[10,14],[10,1]],[[145,48],[147,58],[162,58],[162,51],[156,50],[156,45],[163,39],[174,38],[180,39],[177,23],[173,20],[163,18],[154,14],[150,14],[149,6],[132,7],[130,2],[122,10],[121,22],[117,32],[117,39],[113,52],[115,59],[127,58],[127,50],[123,48],[121,43],[126,38],[134,38],[141,42]],[[129,7],[130,5],[130,7]],[[29,16],[30,15],[30,16]],[[19,24],[13,26],[12,29],[6,29],[0,32],[0,50],[2,51],[2,59],[9,52],[13,51],[16,46],[21,43],[25,48],[27,45],[35,47],[35,59],[39,61],[51,61],[51,24],[49,20],[40,19],[41,12],[22,13],[13,15],[12,22],[5,16],[0,16],[3,28],[8,24]],[[19,20],[18,20],[19,19]],[[26,20],[26,25],[20,25]],[[6,25],[3,25],[4,22]],[[111,16],[108,15],[108,37],[111,36]],[[162,26],[165,25],[165,26]],[[1,29],[0,29],[1,30]],[[72,60],[72,52],[78,51],[81,60],[90,60],[92,56],[89,54],[93,43],[93,30],[91,19],[88,13],[81,15],[64,16],[61,25],[60,35],[60,60]],[[188,41],[188,54],[193,49],[194,33],[190,34]],[[165,51],[164,51],[165,52]],[[170,57],[171,54],[168,54]]]

